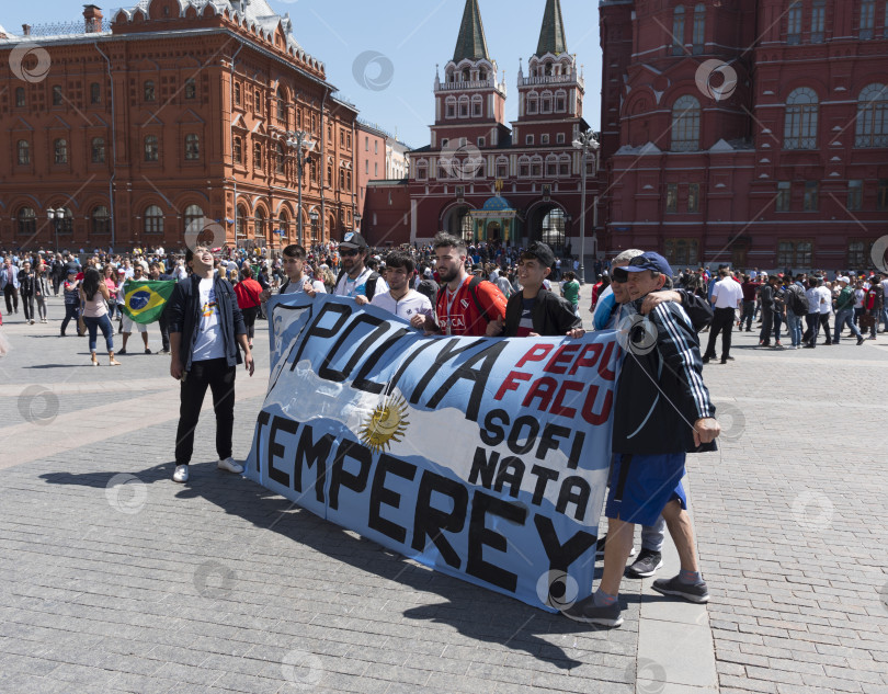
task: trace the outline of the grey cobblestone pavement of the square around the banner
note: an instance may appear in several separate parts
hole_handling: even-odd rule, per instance
[[[706,366],[726,432],[688,471],[718,672],[696,686],[673,675],[696,606],[649,581],[626,581],[626,623],[599,630],[432,572],[217,471],[210,412],[175,485],[167,357],[94,368],[57,318],[4,320],[4,694],[888,691],[888,338],[774,351],[741,333],[737,361]],[[259,326],[239,458],[267,375]]]

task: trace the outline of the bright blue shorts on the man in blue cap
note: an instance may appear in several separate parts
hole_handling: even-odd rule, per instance
[[[604,515],[626,523],[653,525],[665,504],[678,500],[687,508],[682,487],[684,453],[636,455],[615,453],[611,462],[611,490]]]

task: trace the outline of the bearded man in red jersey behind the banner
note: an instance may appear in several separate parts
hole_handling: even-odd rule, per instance
[[[499,287],[466,272],[468,250],[465,241],[442,231],[435,237],[434,249],[443,286],[435,305],[437,325],[426,320],[425,330],[482,337],[491,320],[505,320],[505,296]]]

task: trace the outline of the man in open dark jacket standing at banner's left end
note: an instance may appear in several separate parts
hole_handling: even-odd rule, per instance
[[[170,375],[182,382],[179,430],[175,434],[173,480],[189,479],[189,462],[194,450],[194,429],[207,387],[216,410],[218,468],[242,473],[231,457],[235,426],[235,372],[243,362],[253,375],[253,355],[247,343],[247,327],[231,285],[214,276],[213,253],[197,247],[185,253],[192,275],[173,289],[164,314],[170,327]],[[240,357],[238,344],[243,350]]]

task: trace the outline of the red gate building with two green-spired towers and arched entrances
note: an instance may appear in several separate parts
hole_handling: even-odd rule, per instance
[[[542,239],[559,253],[579,253],[582,156],[572,141],[588,124],[578,67],[560,2],[547,0],[536,52],[517,70],[519,117],[510,127],[506,86],[488,53],[478,2],[467,0],[453,58],[435,75],[431,143],[408,153],[407,181],[368,189],[369,240],[422,243],[447,230],[469,242]],[[594,156],[589,173],[587,255],[595,251]]]

